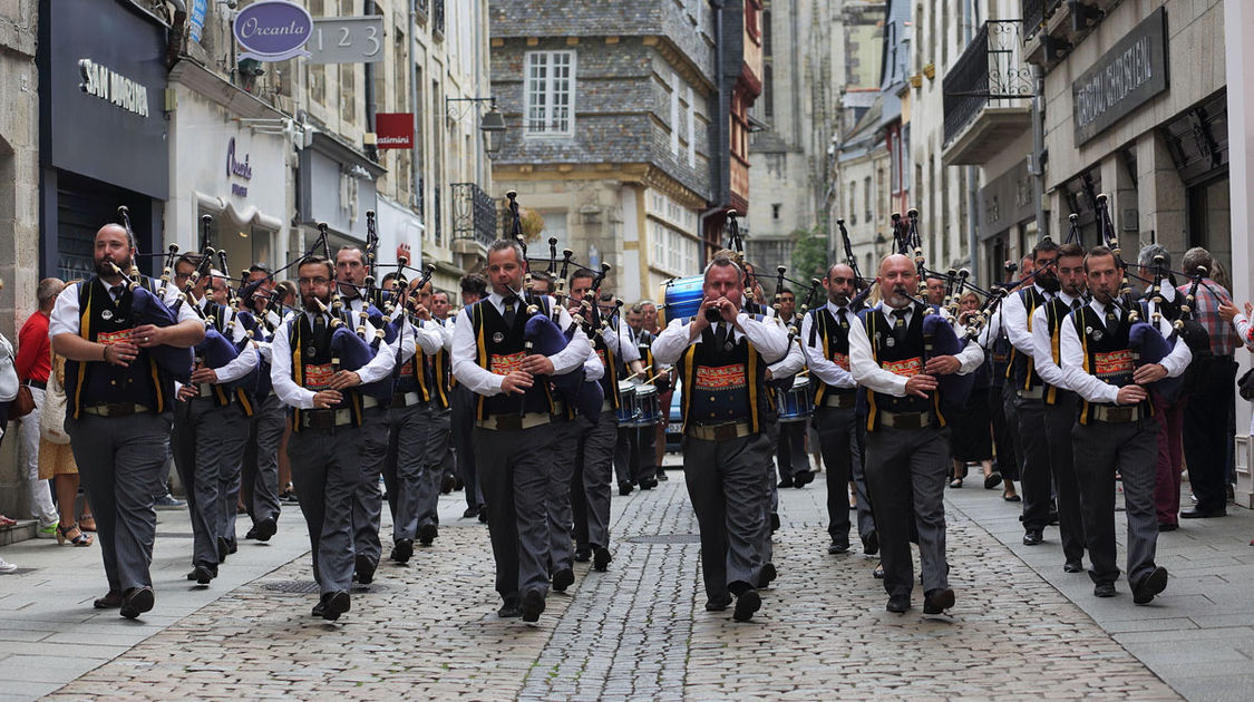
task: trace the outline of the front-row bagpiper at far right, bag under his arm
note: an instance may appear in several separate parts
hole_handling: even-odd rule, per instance
[[[1193,355],[1176,337],[1157,364],[1136,365],[1129,341],[1131,320],[1116,295],[1124,265],[1111,249],[1093,247],[1085,257],[1093,298],[1062,325],[1062,382],[1080,395],[1080,419],[1072,430],[1076,476],[1083,498],[1085,545],[1095,597],[1115,597],[1119,578],[1115,544],[1115,471],[1122,476],[1127,515],[1127,582],[1132,602],[1147,604],[1167,587],[1167,570],[1155,565],[1159,525],[1154,506],[1157,473],[1157,422],[1146,386],[1176,377]],[[1164,337],[1171,326],[1155,325]]]

